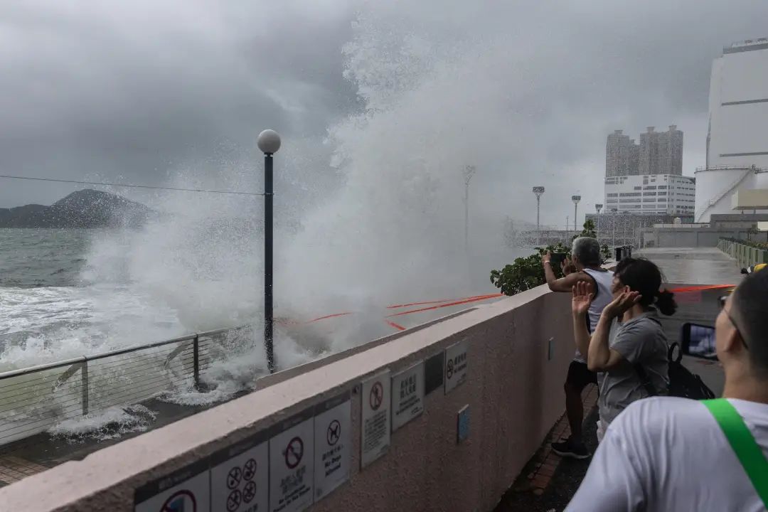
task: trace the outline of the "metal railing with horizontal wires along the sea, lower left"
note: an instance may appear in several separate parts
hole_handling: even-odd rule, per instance
[[[0,445],[94,411],[200,388],[214,358],[227,354],[227,340],[242,342],[247,329],[199,332],[0,373]]]

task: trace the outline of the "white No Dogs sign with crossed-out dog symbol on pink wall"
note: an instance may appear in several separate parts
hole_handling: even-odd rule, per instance
[[[315,416],[315,498],[326,496],[349,480],[352,445],[352,402],[349,394],[327,401]]]

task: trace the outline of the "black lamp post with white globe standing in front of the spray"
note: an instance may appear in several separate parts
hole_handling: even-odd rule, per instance
[[[273,154],[280,149],[280,135],[274,130],[264,130],[257,140],[259,149],[264,154],[264,349],[266,367],[275,372],[275,352],[273,347],[272,315],[272,164]]]

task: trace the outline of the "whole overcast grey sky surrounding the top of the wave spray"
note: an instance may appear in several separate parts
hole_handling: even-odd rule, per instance
[[[605,136],[617,128],[637,137],[677,124],[684,174],[693,175],[704,164],[713,58],[723,45],[768,35],[764,0],[506,2],[498,11],[502,2],[417,3],[389,2],[385,15],[407,11],[432,45],[452,44],[457,31],[508,32],[526,84],[518,143],[535,148],[514,165],[531,172],[523,179],[500,165],[478,173],[476,187],[519,190],[532,205],[530,187],[544,184],[557,204],[542,216],[548,223],[571,213],[555,197],[578,191],[588,210],[601,202]],[[302,148],[322,174],[328,127],[363,106],[344,77],[343,47],[371,7],[6,0],[0,173],[164,184],[180,170],[253,161],[256,135],[273,127],[281,156]],[[0,207],[48,204],[75,188],[0,179]]]

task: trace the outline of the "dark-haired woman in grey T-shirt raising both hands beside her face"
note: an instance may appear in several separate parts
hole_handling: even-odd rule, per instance
[[[667,335],[658,313],[677,309],[674,294],[661,289],[659,268],[647,259],[622,259],[611,292],[614,300],[591,336],[584,320],[593,298],[588,283],[574,286],[572,299],[576,344],[587,354],[588,368],[598,372],[598,439],[633,401],[667,394]]]

